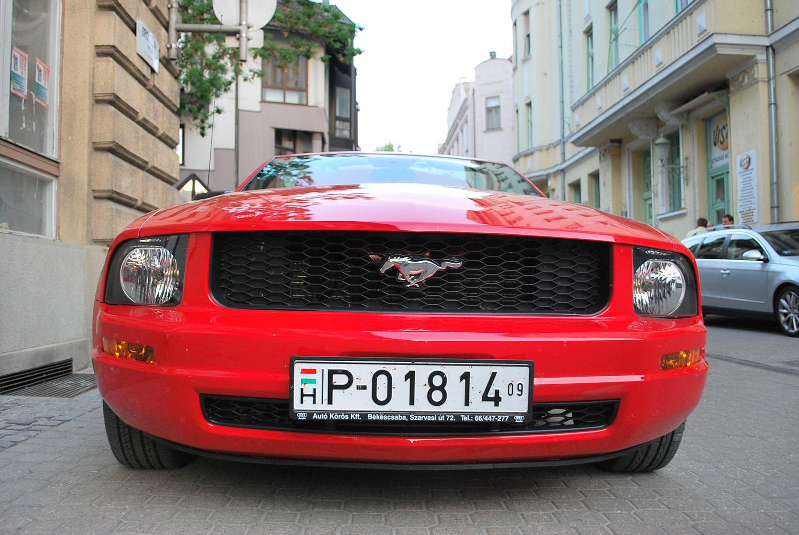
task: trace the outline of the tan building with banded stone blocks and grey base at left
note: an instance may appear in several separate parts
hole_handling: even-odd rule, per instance
[[[0,393],[89,365],[107,246],[178,202],[166,14],[163,0],[0,4]]]

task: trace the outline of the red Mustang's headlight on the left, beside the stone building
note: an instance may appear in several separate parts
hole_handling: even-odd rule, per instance
[[[185,234],[139,238],[114,251],[105,281],[105,302],[177,305],[183,294]]]

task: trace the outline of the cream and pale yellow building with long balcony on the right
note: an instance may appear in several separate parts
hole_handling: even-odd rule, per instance
[[[515,0],[515,165],[678,238],[799,219],[799,3],[764,6]]]

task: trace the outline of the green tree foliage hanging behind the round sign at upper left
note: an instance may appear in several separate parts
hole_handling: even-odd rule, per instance
[[[212,0],[183,0],[182,22],[187,24],[219,24],[213,14]],[[250,49],[256,58],[267,58],[286,68],[297,58],[312,58],[321,44],[333,50],[336,58],[351,63],[362,50],[352,46],[352,39],[362,26],[349,22],[336,6],[324,6],[312,0],[280,0],[269,29],[289,38],[288,44],[277,42],[272,34],[264,32],[264,46]],[[193,121],[200,134],[205,136],[212,114],[221,113],[212,103],[225,94],[236,75],[244,80],[261,76],[260,70],[243,73],[238,62],[238,48],[225,46],[223,34],[185,34],[181,40],[179,81],[181,82],[181,107],[178,114]],[[330,60],[325,54],[320,58]]]

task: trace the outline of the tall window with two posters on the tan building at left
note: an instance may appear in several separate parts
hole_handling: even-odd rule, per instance
[[[0,6],[0,136],[50,158],[58,147],[61,3]]]

